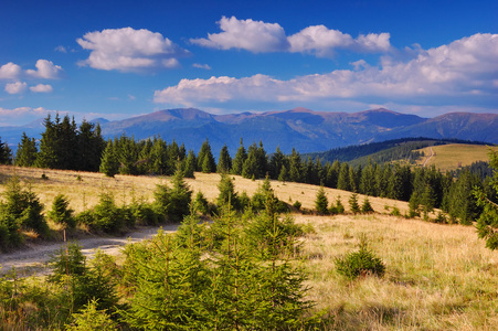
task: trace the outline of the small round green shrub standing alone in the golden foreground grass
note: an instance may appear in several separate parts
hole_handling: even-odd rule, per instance
[[[382,260],[367,247],[367,239],[360,238],[360,249],[336,258],[336,270],[352,280],[359,276],[375,275],[382,277],[385,266]]]

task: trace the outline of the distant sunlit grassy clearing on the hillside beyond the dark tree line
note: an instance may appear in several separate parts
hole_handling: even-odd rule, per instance
[[[431,156],[431,148],[434,156],[428,160],[426,167],[436,166],[442,171],[456,170],[459,167],[470,166],[476,161],[488,161],[489,147],[481,145],[451,143],[433,146],[420,149],[425,157],[417,160],[417,164],[423,164]]]

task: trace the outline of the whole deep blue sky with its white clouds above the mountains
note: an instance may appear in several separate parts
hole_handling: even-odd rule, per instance
[[[497,1],[0,6],[0,126],[159,109],[498,114]]]

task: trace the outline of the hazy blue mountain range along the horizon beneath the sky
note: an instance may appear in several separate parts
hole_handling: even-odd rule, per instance
[[[314,111],[295,108],[285,111],[213,115],[194,108],[167,109],[124,120],[99,122],[103,135],[113,138],[123,134],[136,139],[160,136],[173,139],[187,149],[198,151],[209,139],[213,153],[224,143],[232,154],[240,146],[263,142],[267,152],[279,146],[285,153],[296,148],[301,153],[337,147],[362,145],[406,137],[455,138],[498,143],[498,115],[449,113],[434,118],[401,114],[383,108],[359,113]],[[40,125],[0,128],[2,141],[19,141],[22,131],[40,137]],[[17,146],[17,142],[15,142]]]

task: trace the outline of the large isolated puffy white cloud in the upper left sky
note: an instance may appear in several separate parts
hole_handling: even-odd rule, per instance
[[[179,66],[178,57],[189,54],[160,33],[131,28],[88,32],[76,40],[89,57],[80,65],[120,72]]]

